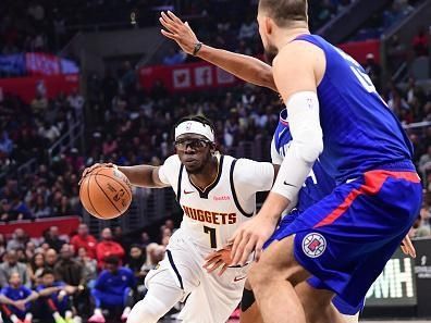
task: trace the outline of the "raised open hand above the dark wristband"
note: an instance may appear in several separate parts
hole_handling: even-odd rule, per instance
[[[199,40],[197,39],[188,23],[183,23],[175,14],[170,11],[168,11],[168,13],[162,12],[159,21],[163,27],[168,29],[168,32],[162,29],[162,35],[175,40],[181,49],[186,53],[193,54],[195,46],[197,42],[199,42]]]

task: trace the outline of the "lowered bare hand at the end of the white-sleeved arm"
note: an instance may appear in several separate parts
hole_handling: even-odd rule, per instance
[[[264,243],[271,237],[276,226],[263,214],[258,214],[244,223],[232,238],[232,264],[244,265],[251,252],[255,251],[255,260],[259,261]]]

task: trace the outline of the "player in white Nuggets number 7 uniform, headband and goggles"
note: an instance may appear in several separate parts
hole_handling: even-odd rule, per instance
[[[160,266],[147,275],[148,294],[132,309],[128,323],[158,322],[186,298],[181,313],[185,322],[224,323],[241,300],[247,264],[227,268],[223,276],[207,273],[202,264],[255,214],[256,192],[271,189],[275,166],[220,156],[214,138],[206,119],[186,119],[175,127],[176,154],[162,166],[119,166],[133,185],[171,186],[184,211],[181,228],[172,235]]]

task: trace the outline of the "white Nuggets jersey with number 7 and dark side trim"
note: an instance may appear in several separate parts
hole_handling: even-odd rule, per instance
[[[256,192],[271,189],[274,169],[267,162],[219,156],[218,176],[201,190],[174,154],[159,169],[159,177],[172,186],[184,211],[181,229],[194,244],[220,249],[256,213]]]

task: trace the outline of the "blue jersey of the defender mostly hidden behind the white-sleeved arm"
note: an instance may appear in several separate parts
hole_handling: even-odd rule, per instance
[[[287,110],[284,109],[280,113],[279,124],[273,137],[274,148],[281,158],[284,158],[291,140],[292,135],[288,128]],[[329,195],[334,189],[334,179],[328,175],[320,161],[317,160],[312,166],[310,175],[307,177],[298,192],[298,202],[296,204],[296,209],[299,212],[305,211],[308,209],[308,207],[315,204]]]

